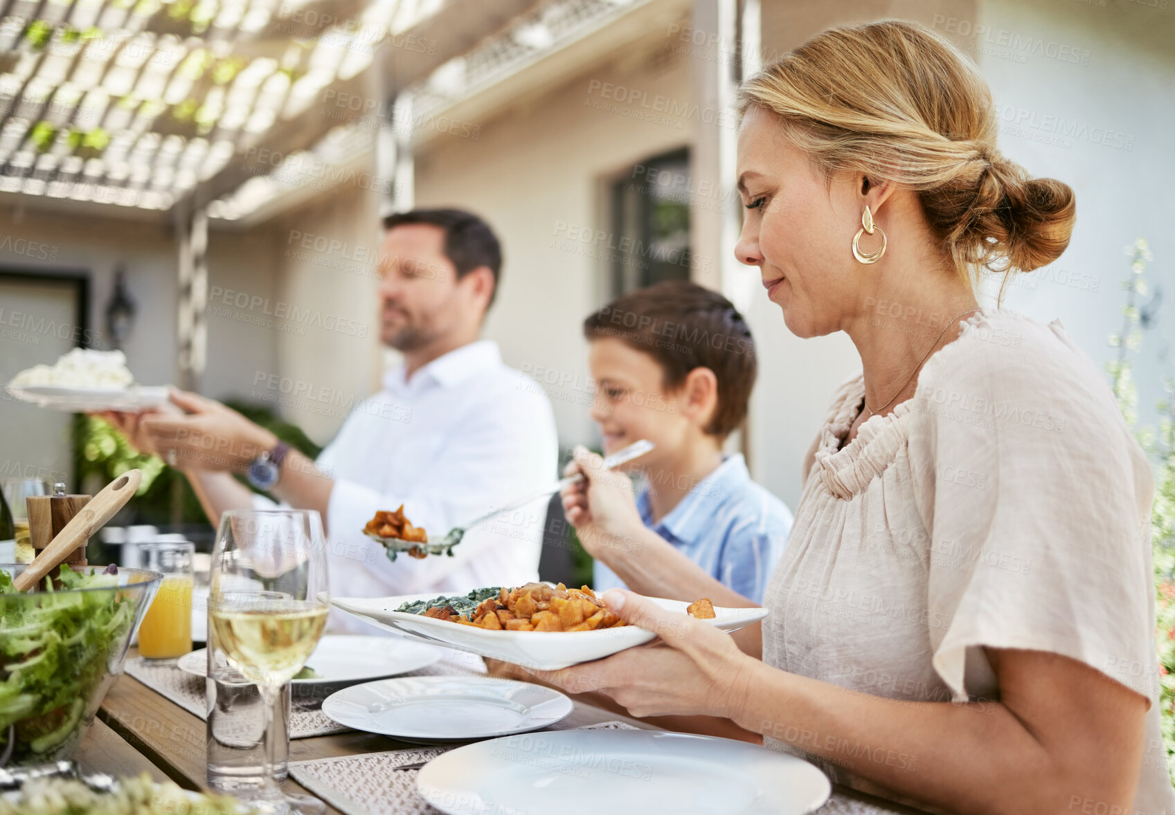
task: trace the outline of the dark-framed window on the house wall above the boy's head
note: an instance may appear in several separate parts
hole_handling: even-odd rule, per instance
[[[612,296],[690,279],[690,151],[637,163],[612,184]]]

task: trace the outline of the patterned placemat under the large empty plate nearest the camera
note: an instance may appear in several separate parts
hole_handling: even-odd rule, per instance
[[[555,725],[548,729],[568,729]],[[600,722],[576,728],[634,729],[624,722]],[[416,792],[415,769],[395,769],[429,761],[461,745],[416,747],[382,753],[364,753],[335,759],[290,762],[290,776],[345,815],[442,815]],[[347,790],[342,793],[340,790]],[[814,815],[893,815],[864,801],[833,793]],[[603,814],[606,815],[606,814]]]

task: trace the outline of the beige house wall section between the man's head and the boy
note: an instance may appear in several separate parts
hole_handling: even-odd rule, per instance
[[[660,95],[679,108],[690,101],[685,59],[665,42],[654,32],[625,45],[575,80],[501,112],[476,140],[442,136],[416,160],[417,206],[471,209],[502,238],[502,288],[485,336],[508,364],[543,383],[565,444],[597,438],[580,325],[610,294],[617,238],[606,182],[692,139],[687,114],[653,115],[630,96]]]

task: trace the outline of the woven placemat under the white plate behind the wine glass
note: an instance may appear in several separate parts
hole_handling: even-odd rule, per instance
[[[485,673],[485,664],[482,662],[481,656],[474,656],[459,651],[450,651],[449,648],[441,648],[439,651],[443,654],[441,661],[403,675],[457,676]],[[180,671],[174,665],[153,664],[142,659],[127,660],[123,669],[127,674],[134,676],[155,693],[175,702],[188,713],[201,719],[208,719],[203,678]],[[290,739],[310,739],[348,729],[350,728],[331,721],[320,709],[307,709],[294,705],[290,710]]]

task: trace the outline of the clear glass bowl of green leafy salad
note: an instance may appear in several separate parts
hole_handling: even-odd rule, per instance
[[[122,673],[163,575],[113,568],[62,566],[21,593],[25,565],[0,564],[0,767],[69,759]]]

